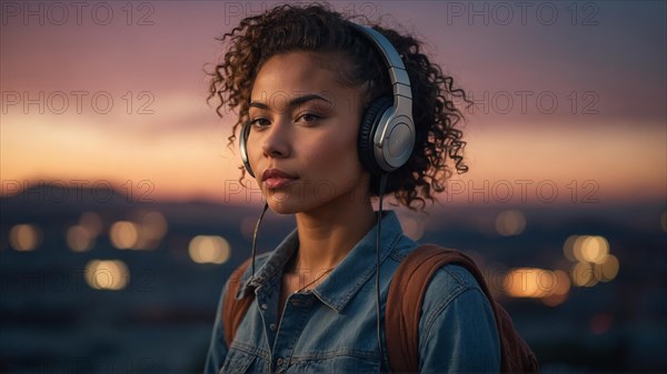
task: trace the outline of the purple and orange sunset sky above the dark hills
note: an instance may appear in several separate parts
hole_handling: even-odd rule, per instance
[[[227,149],[233,113],[207,105],[205,65],[222,51],[216,37],[270,2],[58,4],[1,3],[1,192],[83,180],[150,184],[155,199],[245,198]],[[665,201],[665,2],[334,4],[391,14],[478,103],[455,200],[485,183],[516,199],[530,181],[529,199],[555,185],[565,201]]]

